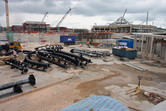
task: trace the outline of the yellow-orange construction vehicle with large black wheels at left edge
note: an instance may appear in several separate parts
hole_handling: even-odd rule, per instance
[[[20,42],[8,42],[6,40],[0,41],[0,55],[6,55],[13,50],[21,50]]]

